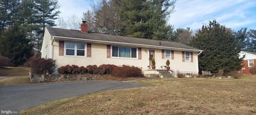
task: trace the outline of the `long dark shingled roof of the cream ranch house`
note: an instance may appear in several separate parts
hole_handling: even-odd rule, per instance
[[[67,29],[60,29],[60,28],[52,28],[46,27],[48,32],[51,36],[64,38],[68,37],[70,39],[80,38],[85,40],[96,40],[102,42],[115,42],[120,44],[134,44],[137,46],[154,46],[158,48],[171,48],[171,49],[180,49],[180,50],[192,50],[192,51],[202,51],[197,48],[193,48],[190,46],[186,46],[177,42],[168,42],[168,41],[160,41],[160,40],[149,40],[143,38],[132,38],[132,37],[125,37],[125,36],[114,36],[108,34],[99,34],[99,33],[82,33],[78,30],[67,30]],[[159,44],[161,42],[161,45]]]

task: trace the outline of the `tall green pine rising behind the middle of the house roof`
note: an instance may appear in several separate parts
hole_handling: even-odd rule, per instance
[[[126,35],[170,40],[173,27],[167,24],[176,0],[121,0],[121,16],[127,21]],[[170,8],[171,7],[171,8]]]

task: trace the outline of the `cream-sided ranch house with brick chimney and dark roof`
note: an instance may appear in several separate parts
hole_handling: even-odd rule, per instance
[[[170,60],[170,69],[182,73],[198,74],[198,54],[202,50],[176,42],[148,40],[46,27],[42,44],[42,57],[56,59],[56,69],[69,65],[134,65],[146,71],[155,59],[156,69]],[[55,71],[58,73],[58,71]],[[175,76],[175,75],[174,75]]]

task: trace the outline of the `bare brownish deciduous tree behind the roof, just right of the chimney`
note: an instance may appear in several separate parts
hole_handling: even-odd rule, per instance
[[[83,19],[87,19],[90,29],[102,34],[121,35],[124,33],[125,21],[122,20],[118,11],[120,6],[114,1],[106,2],[102,0],[96,4],[91,4],[92,12],[84,13]],[[92,18],[94,17],[94,18]]]

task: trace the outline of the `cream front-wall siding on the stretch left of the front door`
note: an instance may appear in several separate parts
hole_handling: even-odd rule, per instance
[[[86,44],[86,43],[84,43]],[[114,65],[134,65],[136,67],[146,67],[148,65],[148,57],[145,52],[142,52],[142,59],[123,59],[123,58],[107,58],[106,45],[92,44],[92,57],[77,57],[77,56],[58,56],[58,41],[54,42],[54,58],[57,59],[56,64],[58,67],[64,65],[102,65],[102,64],[114,64]],[[142,48],[142,50],[145,50]],[[58,68],[57,67],[57,68]]]

